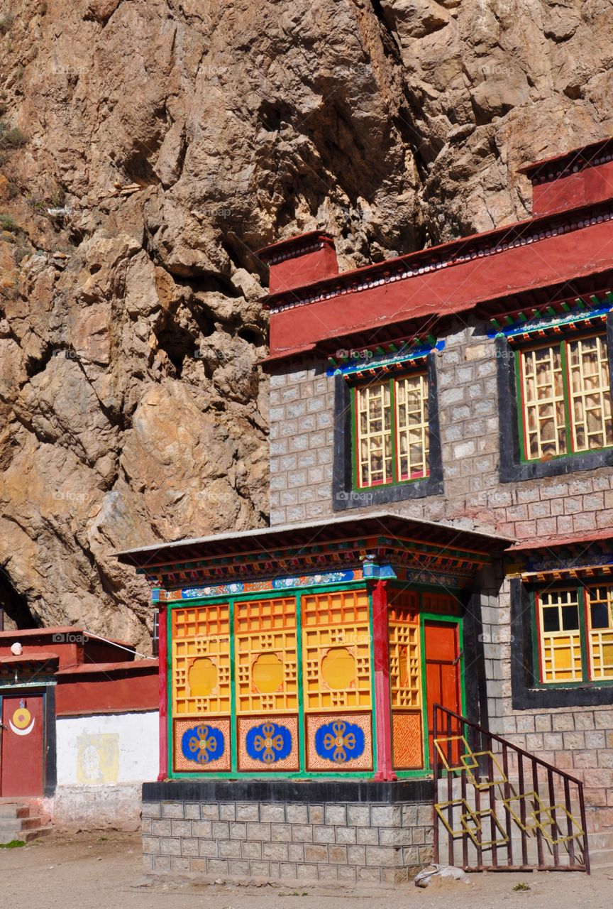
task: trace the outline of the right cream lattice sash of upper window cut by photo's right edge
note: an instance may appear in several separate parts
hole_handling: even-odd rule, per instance
[[[607,341],[604,335],[567,345],[573,450],[613,445]]]

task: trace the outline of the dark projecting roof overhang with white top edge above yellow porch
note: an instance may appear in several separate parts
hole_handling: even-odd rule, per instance
[[[234,534],[215,534],[117,553],[152,584],[216,582],[247,577],[305,574],[323,567],[378,563],[436,566],[474,575],[513,540],[452,524],[422,521],[391,512],[282,524]]]

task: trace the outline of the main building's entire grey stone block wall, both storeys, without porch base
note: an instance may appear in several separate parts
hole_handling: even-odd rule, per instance
[[[457,319],[436,355],[444,492],[378,505],[518,539],[589,534],[613,524],[613,471],[500,483],[498,355],[489,324]],[[334,378],[324,361],[271,376],[271,523],[322,520],[333,509]],[[342,514],[368,514],[363,506]],[[509,581],[481,579],[489,726],[585,780],[594,825],[613,826],[613,705],[514,710]]]

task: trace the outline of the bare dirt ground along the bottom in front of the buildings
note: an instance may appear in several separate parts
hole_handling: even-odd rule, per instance
[[[517,884],[529,890],[514,891]],[[610,909],[613,868],[585,874],[473,874],[421,890],[348,886],[193,884],[143,875],[138,834],[56,835],[0,850],[0,909]],[[338,906],[336,907],[338,909]]]

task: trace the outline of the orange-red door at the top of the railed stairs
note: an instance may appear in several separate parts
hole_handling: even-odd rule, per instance
[[[426,644],[426,698],[431,765],[434,754],[434,736],[432,734],[434,704],[441,704],[454,713],[461,714],[458,624],[455,622],[426,622],[424,624],[424,636]],[[458,733],[458,727],[452,724],[450,734]],[[441,734],[445,735],[446,729],[438,732],[439,737]],[[458,745],[453,745],[450,758],[454,764],[458,763],[459,754]]]

